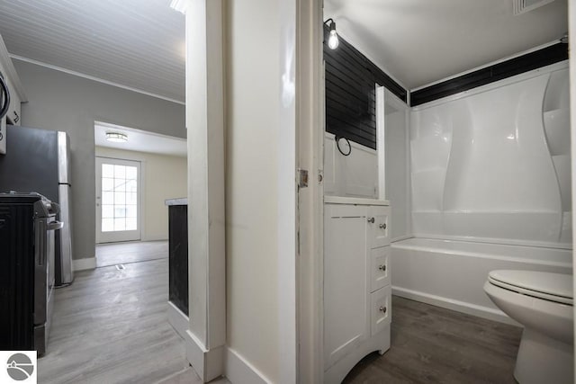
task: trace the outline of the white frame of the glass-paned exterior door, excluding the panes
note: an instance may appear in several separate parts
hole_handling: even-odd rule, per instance
[[[142,239],[142,233],[143,228],[143,222],[144,220],[142,220],[142,212],[144,212],[144,207],[142,206],[144,199],[142,199],[142,194],[143,194],[143,188],[142,186],[144,185],[143,180],[142,180],[142,175],[144,174],[142,172],[143,169],[143,164],[141,161],[138,160],[132,160],[132,159],[127,159],[127,158],[117,158],[117,157],[108,157],[108,156],[94,156],[95,157],[95,184],[96,184],[96,204],[95,204],[95,210],[96,210],[96,244],[105,244],[105,243],[119,243],[119,242],[125,242],[125,241],[139,241]],[[102,195],[102,165],[103,164],[110,164],[110,163],[105,163],[105,161],[108,160],[110,163],[113,164],[117,164],[117,165],[136,165],[137,169],[138,169],[138,178],[137,178],[137,183],[138,183],[138,203],[137,203],[137,230],[134,232],[137,232],[137,234],[134,234],[133,238],[126,238],[126,237],[122,237],[120,234],[116,234],[116,232],[112,232],[111,234],[105,235],[103,236],[103,232],[101,230],[102,228],[102,201],[98,201],[98,196]],[[122,232],[127,232],[127,231],[122,231]],[[131,231],[130,231],[131,232]],[[113,235],[116,234],[116,235]],[[138,235],[138,236],[136,236]],[[103,238],[104,237],[104,238]]]

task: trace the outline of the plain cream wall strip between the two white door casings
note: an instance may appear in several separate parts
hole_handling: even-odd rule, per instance
[[[277,382],[279,4],[226,5],[227,342]]]

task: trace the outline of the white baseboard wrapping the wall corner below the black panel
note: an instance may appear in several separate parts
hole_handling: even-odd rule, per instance
[[[209,382],[224,374],[224,350],[225,346],[207,350],[202,342],[190,332],[190,321],[180,309],[170,301],[167,303],[168,322],[176,333],[184,339],[186,347],[186,359],[202,382]]]

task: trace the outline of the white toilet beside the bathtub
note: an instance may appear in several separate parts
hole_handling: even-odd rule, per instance
[[[573,383],[572,275],[492,271],[488,297],[524,326],[514,377],[520,384]]]

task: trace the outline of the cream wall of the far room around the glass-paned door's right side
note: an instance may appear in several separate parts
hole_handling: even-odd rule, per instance
[[[96,147],[96,156],[140,162],[141,240],[168,239],[168,207],[164,201],[187,194],[186,157]]]

